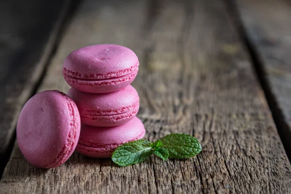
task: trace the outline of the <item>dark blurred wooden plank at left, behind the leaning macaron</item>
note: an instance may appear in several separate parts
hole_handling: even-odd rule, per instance
[[[57,0],[0,2],[0,177],[18,113],[41,78],[64,19],[60,11],[67,5]]]

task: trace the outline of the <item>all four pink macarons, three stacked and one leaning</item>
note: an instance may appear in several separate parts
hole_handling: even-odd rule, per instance
[[[136,117],[139,97],[129,85],[138,58],[128,48],[94,45],[73,51],[63,67],[68,94],[48,90],[31,97],[17,121],[20,151],[31,164],[54,168],[75,149],[95,158],[110,158],[117,146],[142,139]],[[80,138],[79,138],[80,137]]]

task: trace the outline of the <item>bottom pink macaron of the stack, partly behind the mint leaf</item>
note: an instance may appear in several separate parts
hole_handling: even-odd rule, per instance
[[[82,125],[76,150],[85,156],[93,158],[111,158],[116,147],[142,139],[145,132],[144,124],[137,117],[115,127]]]

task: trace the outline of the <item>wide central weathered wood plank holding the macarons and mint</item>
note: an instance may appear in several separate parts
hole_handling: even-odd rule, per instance
[[[197,137],[195,158],[150,157],[129,167],[72,157],[38,169],[17,144],[0,193],[291,193],[291,165],[246,50],[221,0],[86,0],[65,32],[41,85],[69,86],[62,62],[92,44],[133,49],[140,71],[145,138],[172,132]]]

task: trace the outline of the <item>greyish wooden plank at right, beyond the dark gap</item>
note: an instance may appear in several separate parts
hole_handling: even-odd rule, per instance
[[[291,160],[291,3],[236,0],[242,24],[260,65],[281,139]]]

